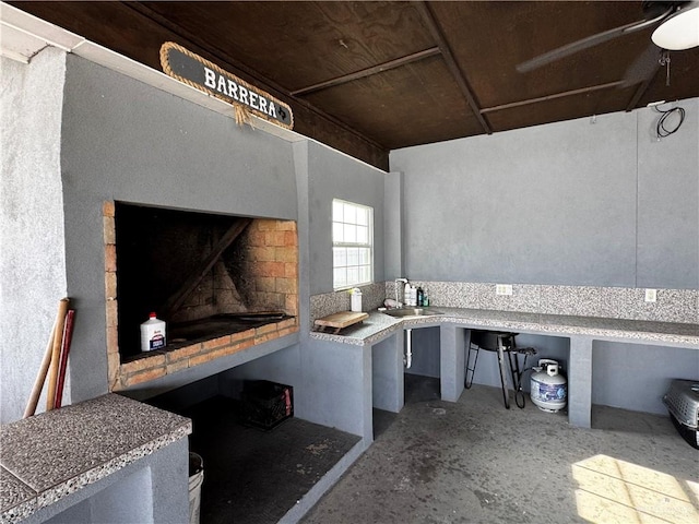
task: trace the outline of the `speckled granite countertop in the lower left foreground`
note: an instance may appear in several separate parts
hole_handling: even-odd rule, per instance
[[[191,420],[107,394],[0,427],[0,522],[20,522],[187,437]]]

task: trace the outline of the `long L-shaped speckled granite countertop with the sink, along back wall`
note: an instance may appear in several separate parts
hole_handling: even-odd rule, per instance
[[[371,311],[362,324],[343,330],[342,334],[311,333],[311,338],[352,345],[371,345],[398,329],[425,324],[457,323],[473,327],[556,333],[602,338],[624,338],[699,349],[699,324],[652,322],[641,320],[572,317],[559,314],[495,311],[486,309],[431,308],[441,314],[394,318]]]

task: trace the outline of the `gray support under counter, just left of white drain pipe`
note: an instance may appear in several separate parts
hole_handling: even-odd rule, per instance
[[[404,403],[403,341],[404,332],[399,330],[371,348],[374,407],[392,413],[399,413]]]

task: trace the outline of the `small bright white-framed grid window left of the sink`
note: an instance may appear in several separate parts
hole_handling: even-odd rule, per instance
[[[343,200],[332,201],[332,277],[334,289],[374,279],[374,210]]]

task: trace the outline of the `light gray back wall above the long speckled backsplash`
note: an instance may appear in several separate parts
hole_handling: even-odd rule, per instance
[[[391,153],[412,279],[699,288],[699,99]]]

